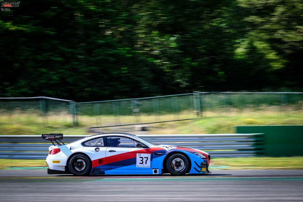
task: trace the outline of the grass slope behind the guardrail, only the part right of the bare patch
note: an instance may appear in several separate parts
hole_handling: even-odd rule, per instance
[[[188,121],[186,124],[181,122],[176,124],[178,125],[170,134],[230,134],[236,132],[235,126],[237,125],[303,125],[303,113],[277,111],[222,113],[220,116],[199,118]],[[167,130],[167,132],[169,131]]]

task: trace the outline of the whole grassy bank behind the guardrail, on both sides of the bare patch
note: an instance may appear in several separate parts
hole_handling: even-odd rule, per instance
[[[185,113],[185,112],[184,112]],[[167,117],[165,117],[167,116]],[[174,117],[172,114],[162,115],[163,120]],[[79,117],[79,120],[89,117]],[[90,117],[102,120],[114,120],[113,116]],[[142,115],[141,119],[154,121],[154,116]],[[129,117],[133,120],[133,117]],[[70,135],[89,134],[87,127],[92,125],[82,125],[73,127],[69,115],[49,115],[38,116],[37,114],[12,113],[0,114],[0,135],[16,134],[43,134],[43,133],[63,133]],[[89,122],[89,124],[92,124]],[[121,122],[122,124],[129,124]],[[239,110],[229,108],[224,111],[203,112],[203,117],[187,120],[149,124],[145,134],[228,134],[235,133],[236,125],[303,125],[303,113],[300,110],[285,109],[282,112],[276,108],[264,108],[263,110]],[[96,125],[94,125],[96,126]],[[117,132],[116,128],[101,128],[103,132]],[[134,132],[134,126],[123,126],[118,132]]]

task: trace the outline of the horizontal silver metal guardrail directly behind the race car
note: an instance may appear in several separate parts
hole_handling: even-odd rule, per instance
[[[88,135],[64,135],[64,143],[70,143]],[[263,134],[175,134],[138,135],[156,144],[192,147],[216,157],[259,156],[263,152]],[[41,135],[1,135],[0,158],[45,159],[52,144]]]

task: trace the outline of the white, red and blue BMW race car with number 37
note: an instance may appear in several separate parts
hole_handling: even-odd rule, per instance
[[[206,152],[153,144],[132,134],[97,134],[69,144],[61,141],[63,134],[42,134],[42,138],[54,145],[49,147],[46,158],[48,174],[211,173],[210,155]]]

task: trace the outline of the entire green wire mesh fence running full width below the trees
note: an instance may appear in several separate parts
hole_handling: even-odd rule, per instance
[[[266,111],[303,112],[303,93],[194,92],[85,103],[48,97],[0,98],[0,124],[13,127],[143,125]]]

